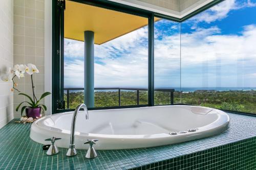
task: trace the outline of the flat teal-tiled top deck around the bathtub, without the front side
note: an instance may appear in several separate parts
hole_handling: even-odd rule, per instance
[[[220,135],[155,148],[98,151],[98,157],[92,160],[84,157],[85,150],[67,157],[63,148],[58,155],[47,156],[42,144],[29,138],[31,124],[12,120],[0,129],[0,169],[130,169],[256,136],[256,117],[228,114],[230,128]]]

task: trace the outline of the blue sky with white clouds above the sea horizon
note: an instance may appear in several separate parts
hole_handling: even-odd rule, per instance
[[[95,45],[95,87],[147,87],[147,27]],[[256,87],[256,0],[155,22],[155,87]],[[83,87],[83,42],[65,39],[65,87]]]

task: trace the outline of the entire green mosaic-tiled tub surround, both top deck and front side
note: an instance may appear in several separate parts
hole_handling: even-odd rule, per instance
[[[88,160],[86,151],[67,157],[59,148],[47,156],[42,145],[29,138],[30,124],[0,129],[0,169],[256,169],[256,117],[228,113],[228,131],[195,141],[155,148],[98,151]]]

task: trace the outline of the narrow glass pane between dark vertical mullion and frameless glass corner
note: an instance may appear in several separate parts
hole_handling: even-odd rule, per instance
[[[180,103],[180,23],[155,22],[155,105]],[[174,91],[175,90],[175,91]]]

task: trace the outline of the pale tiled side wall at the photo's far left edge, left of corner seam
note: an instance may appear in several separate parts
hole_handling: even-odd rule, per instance
[[[0,1],[0,74],[13,65],[13,1]],[[0,80],[0,128],[13,118],[12,84]]]

